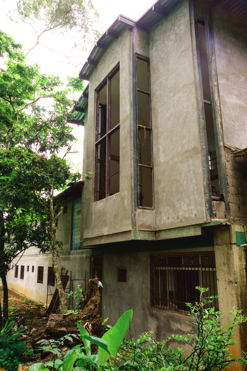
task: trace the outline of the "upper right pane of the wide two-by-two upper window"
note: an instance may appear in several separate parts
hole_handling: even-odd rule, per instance
[[[111,121],[110,128],[114,128],[120,122],[120,72],[111,79]]]

